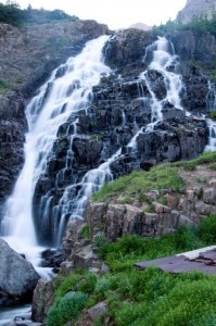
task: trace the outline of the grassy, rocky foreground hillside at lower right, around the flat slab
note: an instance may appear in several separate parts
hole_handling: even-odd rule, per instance
[[[206,153],[131,174],[96,193],[85,221],[68,224],[59,276],[36,288],[34,319],[43,322],[52,304],[48,326],[214,325],[215,275],[134,264],[215,244],[215,215],[204,216],[216,212],[215,163],[216,154]],[[47,303],[38,305],[42,298]],[[77,309],[63,314],[73,304]]]

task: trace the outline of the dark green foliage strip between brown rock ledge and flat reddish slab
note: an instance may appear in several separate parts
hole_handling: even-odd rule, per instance
[[[185,226],[162,238],[143,238],[137,235],[124,236],[116,243],[106,243],[103,258],[112,271],[120,272],[132,268],[138,261],[153,260],[177,252],[202,247],[196,230]]]

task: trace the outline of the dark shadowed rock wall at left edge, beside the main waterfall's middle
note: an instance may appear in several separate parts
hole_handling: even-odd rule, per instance
[[[11,193],[24,162],[27,123],[24,101],[17,93],[0,96],[0,217],[1,205]]]

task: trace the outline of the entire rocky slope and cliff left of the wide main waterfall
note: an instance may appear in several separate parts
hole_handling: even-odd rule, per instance
[[[9,95],[0,96],[0,215],[24,160],[26,102],[56,66],[76,55],[87,40],[105,33],[107,27],[94,21],[23,28],[0,24],[0,75],[9,85]]]

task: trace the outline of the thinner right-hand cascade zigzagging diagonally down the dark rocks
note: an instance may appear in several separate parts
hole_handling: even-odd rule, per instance
[[[168,53],[168,48],[171,49],[171,54]],[[143,72],[140,75],[140,79],[144,79],[145,85],[149,89],[149,93],[151,96],[150,99],[142,98],[142,100],[148,101],[149,105],[151,106],[152,123],[149,124],[145,128],[142,127],[141,129],[139,129],[137,134],[131,138],[126,147],[130,151],[130,153],[136,152],[137,150],[138,136],[141,133],[153,130],[154,125],[163,120],[162,110],[167,102],[170,103],[174,108],[183,111],[183,108],[180,104],[180,91],[182,89],[181,77],[178,74],[167,71],[167,67],[176,64],[176,55],[174,54],[171,43],[168,42],[165,38],[160,38],[153,46],[151,46],[151,50],[153,50],[153,60],[149,65],[149,70],[158,71],[163,75],[167,95],[163,100],[157,100],[148,80],[148,71]],[[123,116],[123,124],[125,124],[125,114]],[[58,243],[60,243],[62,239],[62,235],[66,224],[66,216],[67,220],[82,217],[88,198],[94,191],[99,190],[104,181],[111,181],[113,179],[110,165],[116,159],[118,159],[122,149],[116,151],[116,153],[114,153],[105,163],[99,165],[98,168],[90,170],[88,173],[86,173],[79,184],[80,190],[76,196],[73,197],[72,193],[74,192],[74,189],[77,187],[77,185],[72,185],[65,189],[64,195],[60,201],[60,205],[58,206],[58,211],[61,208],[62,214],[62,222],[59,227]]]

